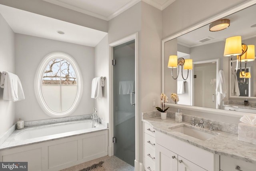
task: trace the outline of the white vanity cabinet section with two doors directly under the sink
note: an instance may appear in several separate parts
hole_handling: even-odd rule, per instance
[[[156,131],[156,171],[219,171],[219,156]]]

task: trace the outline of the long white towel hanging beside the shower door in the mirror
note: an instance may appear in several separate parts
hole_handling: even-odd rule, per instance
[[[218,105],[226,97],[226,82],[223,70],[219,71],[218,80],[216,82],[216,95],[218,100]]]

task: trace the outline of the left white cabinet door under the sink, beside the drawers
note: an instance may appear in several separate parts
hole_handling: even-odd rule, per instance
[[[156,171],[177,171],[178,155],[156,144]]]

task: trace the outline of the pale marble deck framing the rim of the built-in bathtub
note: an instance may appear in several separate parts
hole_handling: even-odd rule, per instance
[[[62,138],[66,138],[66,137],[83,135],[83,134],[86,134],[86,133],[91,133],[92,131],[95,132],[95,131],[102,131],[102,130],[108,129],[104,125],[100,124],[98,127],[90,128],[90,129],[82,129],[82,130],[77,130],[77,131],[58,133],[58,134],[54,134],[54,135],[47,135],[47,136],[43,136],[43,137],[36,137],[36,138],[25,139],[25,140],[16,140],[15,139],[15,137],[18,134],[20,134],[20,133],[22,133],[22,132],[24,132],[26,130],[41,129],[41,128],[45,128],[45,127],[53,127],[53,126],[58,126],[58,125],[70,124],[70,123],[80,123],[80,122],[84,122],[85,120],[88,120],[88,119],[78,120],[78,121],[62,122],[62,123],[53,123],[53,124],[49,124],[49,125],[31,126],[31,127],[25,127],[24,129],[16,129],[6,139],[6,141],[4,141],[0,145],[0,150],[11,149],[11,148],[14,148],[14,147],[21,147],[21,146],[31,145],[31,144],[35,144],[35,143],[42,143],[42,142],[52,141],[52,140],[56,140],[56,139],[62,139]]]

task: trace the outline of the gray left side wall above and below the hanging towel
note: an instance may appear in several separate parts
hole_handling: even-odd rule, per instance
[[[14,54],[14,32],[0,14],[0,72],[15,73]],[[14,124],[15,104],[19,103],[2,97],[3,89],[0,88],[0,137]]]

